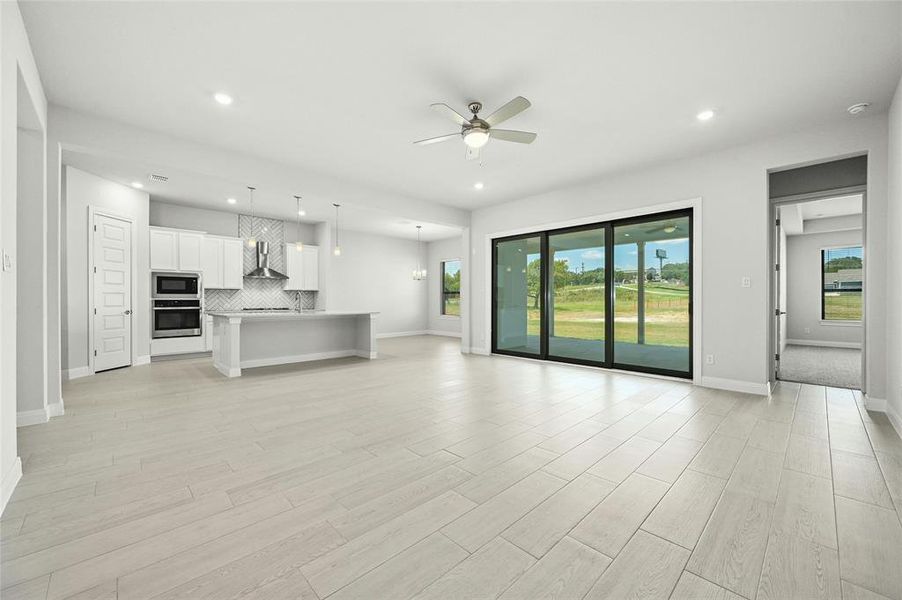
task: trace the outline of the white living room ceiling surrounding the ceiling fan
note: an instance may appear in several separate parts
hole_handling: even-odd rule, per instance
[[[51,102],[464,208],[853,118],[856,102],[885,111],[900,7],[21,3]],[[516,95],[533,107],[505,127],[532,145],[490,141],[480,166],[457,140],[411,143],[455,130],[432,102],[488,113]],[[703,108],[717,116],[698,122]]]

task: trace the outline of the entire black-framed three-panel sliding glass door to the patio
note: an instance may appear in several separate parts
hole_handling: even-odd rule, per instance
[[[498,239],[493,251],[493,352],[691,376],[691,211]]]

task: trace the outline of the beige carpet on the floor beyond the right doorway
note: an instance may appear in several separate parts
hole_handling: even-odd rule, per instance
[[[780,355],[780,379],[861,389],[861,350],[786,346]]]

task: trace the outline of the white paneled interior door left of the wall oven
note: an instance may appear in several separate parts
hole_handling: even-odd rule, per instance
[[[131,223],[94,215],[94,371],[132,364]]]

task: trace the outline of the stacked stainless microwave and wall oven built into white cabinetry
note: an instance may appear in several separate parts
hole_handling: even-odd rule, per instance
[[[152,273],[152,337],[157,339],[202,335],[204,321],[202,292],[198,273]]]

